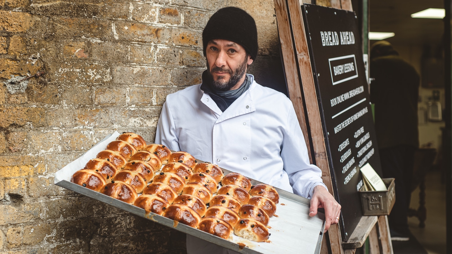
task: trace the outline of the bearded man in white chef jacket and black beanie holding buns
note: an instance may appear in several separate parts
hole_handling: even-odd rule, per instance
[[[309,164],[291,101],[246,74],[258,51],[254,19],[239,8],[220,9],[202,42],[202,84],[167,96],[155,142],[311,198],[311,216],[325,208],[325,231],[338,223],[340,205],[322,183],[321,170]],[[235,253],[194,237],[187,237],[187,251]]]

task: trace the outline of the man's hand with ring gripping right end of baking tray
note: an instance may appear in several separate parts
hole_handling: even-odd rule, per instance
[[[309,208],[309,216],[315,216],[317,214],[317,208],[325,209],[325,231],[330,228],[331,224],[339,223],[340,205],[334,199],[325,187],[317,185],[314,187],[314,193],[311,198],[311,208]]]

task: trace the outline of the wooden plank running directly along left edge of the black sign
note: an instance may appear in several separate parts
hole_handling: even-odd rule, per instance
[[[295,44],[295,53],[298,61],[298,75],[303,84],[304,99],[307,109],[307,119],[311,130],[311,141],[314,150],[315,164],[322,170],[322,180],[330,193],[334,196],[331,182],[330,165],[326,156],[325,138],[323,135],[320,109],[315,92],[314,77],[312,76],[311,59],[309,57],[306,31],[298,0],[287,0],[287,7],[292,23],[292,34]],[[289,91],[290,94],[290,91]],[[344,254],[339,226],[332,225],[328,230],[331,251],[333,254]]]

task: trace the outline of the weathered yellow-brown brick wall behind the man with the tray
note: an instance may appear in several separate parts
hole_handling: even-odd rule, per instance
[[[230,5],[258,24],[250,72],[283,84],[273,0],[0,0],[0,253],[184,253],[183,234],[54,174],[114,130],[153,141],[165,96],[200,82],[202,28]]]

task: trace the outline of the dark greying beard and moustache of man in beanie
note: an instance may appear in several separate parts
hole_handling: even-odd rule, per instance
[[[209,70],[209,62],[207,61],[207,70],[209,70],[209,75],[212,77],[212,80],[213,80],[212,75],[213,71],[227,72],[231,76],[231,78],[228,81],[224,81],[223,78],[218,78],[217,80],[212,81],[213,87],[222,92],[231,90],[231,88],[237,85],[237,83],[245,74],[247,66],[248,66],[248,56],[245,56],[245,60],[237,67],[237,69],[235,69],[234,72],[231,69],[218,66],[215,66],[212,68],[212,70]]]

